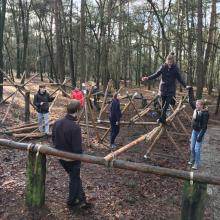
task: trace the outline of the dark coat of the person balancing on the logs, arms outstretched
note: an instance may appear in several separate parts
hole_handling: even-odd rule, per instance
[[[159,76],[160,87],[159,87],[159,95],[161,96],[175,96],[176,95],[176,80],[180,82],[181,85],[186,87],[186,83],[182,79],[180,75],[180,70],[177,64],[173,64],[170,68],[167,64],[163,64],[156,73],[152,74],[148,77],[149,80],[156,79]]]

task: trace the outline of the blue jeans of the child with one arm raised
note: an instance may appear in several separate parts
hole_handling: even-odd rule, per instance
[[[199,165],[200,164],[200,151],[202,147],[202,141],[197,142],[197,137],[199,135],[199,131],[192,130],[191,136],[191,162]],[[204,136],[203,136],[204,138]]]

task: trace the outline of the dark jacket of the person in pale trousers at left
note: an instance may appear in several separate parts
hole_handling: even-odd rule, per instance
[[[34,95],[34,105],[37,107],[37,112],[48,113],[49,102],[52,102],[54,97],[51,97],[47,91],[41,93],[40,90]],[[43,105],[40,103],[43,102]]]

